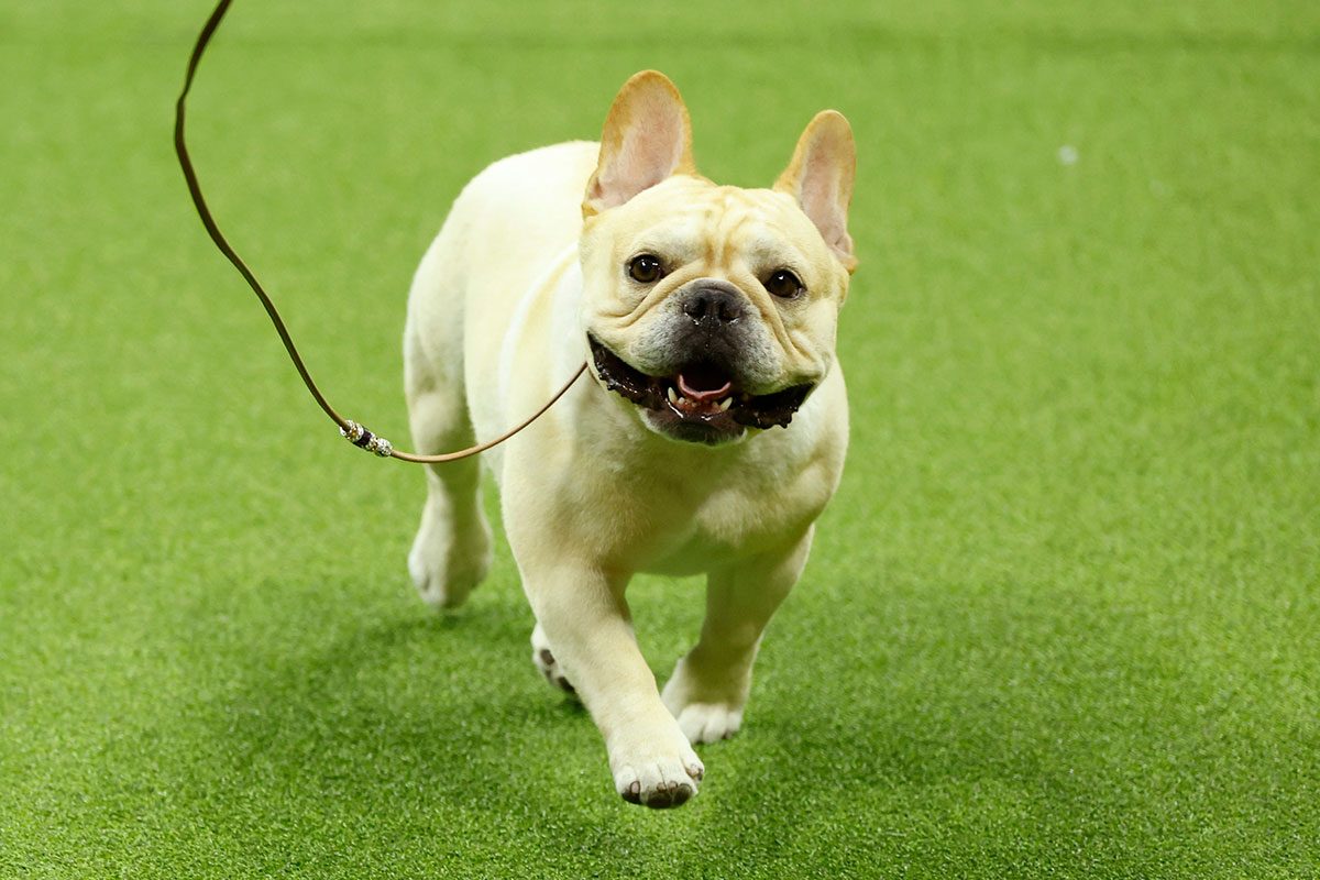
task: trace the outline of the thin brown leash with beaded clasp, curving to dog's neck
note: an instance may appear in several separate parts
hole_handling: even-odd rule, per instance
[[[183,169],[183,179],[187,182],[187,191],[193,197],[193,204],[197,207],[198,216],[202,218],[202,226],[211,236],[211,241],[215,247],[220,249],[220,253],[234,264],[234,268],[239,270],[243,280],[248,282],[252,292],[265,306],[265,314],[271,317],[271,323],[275,325],[275,331],[280,334],[280,340],[284,343],[284,350],[289,352],[289,359],[293,360],[294,368],[297,368],[298,375],[302,377],[302,384],[308,387],[308,392],[315,398],[321,409],[325,410],[335,425],[339,426],[339,433],[348,439],[354,446],[370,450],[381,458],[397,458],[401,462],[416,462],[418,464],[441,464],[444,462],[457,462],[461,458],[467,458],[470,455],[477,455],[478,453],[484,453],[492,446],[498,446],[507,441],[513,434],[519,433],[537,418],[540,418],[545,410],[553,406],[560,397],[568,393],[569,388],[573,387],[582,373],[586,372],[586,364],[583,363],[573,379],[568,380],[562,388],[560,388],[550,400],[536,410],[531,418],[519,424],[517,426],[504,431],[495,439],[487,441],[484,443],[478,443],[477,446],[470,446],[469,449],[458,450],[457,453],[442,453],[440,455],[418,455],[416,453],[401,453],[391,445],[384,437],[368,431],[366,427],[358,422],[345,418],[341,416],[330,401],[326,400],[325,394],[317,387],[315,381],[312,379],[312,373],[308,371],[308,365],[302,361],[302,355],[298,354],[297,346],[293,344],[293,336],[289,335],[289,329],[284,323],[284,318],[280,317],[279,309],[275,307],[275,302],[261,288],[261,282],[256,280],[252,269],[243,261],[243,257],[238,255],[238,251],[226,240],[224,235],[220,232],[220,227],[215,223],[215,218],[211,216],[211,208],[206,204],[206,198],[202,195],[202,185],[197,179],[197,170],[193,168],[193,160],[187,153],[187,142],[183,139],[183,115],[187,103],[187,92],[193,88],[193,78],[197,75],[197,66],[202,61],[202,54],[206,51],[207,44],[211,42],[211,37],[215,36],[216,29],[220,26],[220,20],[224,18],[224,13],[228,12],[232,0],[220,0],[215,9],[211,12],[211,17],[206,20],[202,26],[202,32],[197,36],[197,44],[193,46],[193,54],[187,59],[187,74],[183,78],[183,91],[178,95],[178,102],[174,104],[174,152],[178,154],[180,168]]]

